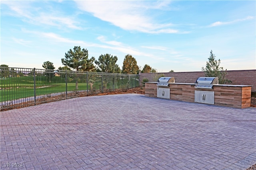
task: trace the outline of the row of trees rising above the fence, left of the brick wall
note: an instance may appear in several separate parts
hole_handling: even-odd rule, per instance
[[[110,54],[100,55],[98,60],[94,57],[88,58],[88,50],[81,49],[80,46],[75,46],[65,53],[65,58],[61,59],[63,67],[58,70],[76,70],[89,72],[109,72],[109,73],[124,73],[124,74],[138,74],[139,72],[156,72],[156,69],[151,68],[145,64],[140,70],[137,61],[132,55],[127,54],[124,57],[122,70],[116,64],[118,58]],[[96,64],[96,66],[94,65]],[[52,62],[46,61],[42,65],[47,70],[54,70],[55,67]]]

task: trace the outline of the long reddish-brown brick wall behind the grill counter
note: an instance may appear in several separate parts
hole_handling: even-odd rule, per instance
[[[174,77],[176,83],[194,83],[198,77],[205,76],[202,71],[140,73],[140,82],[143,78],[148,78],[149,82],[156,82],[162,74]],[[256,70],[230,70],[227,71],[226,78],[232,81],[230,84],[252,85],[252,92],[256,91]]]

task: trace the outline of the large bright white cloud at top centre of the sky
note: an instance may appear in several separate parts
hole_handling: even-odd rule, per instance
[[[172,23],[159,23],[150,10],[166,10],[170,1],[76,1],[78,8],[124,30],[144,33],[183,33]]]

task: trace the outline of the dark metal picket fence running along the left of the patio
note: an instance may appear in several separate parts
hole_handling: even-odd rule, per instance
[[[139,86],[138,74],[1,67],[2,110]]]

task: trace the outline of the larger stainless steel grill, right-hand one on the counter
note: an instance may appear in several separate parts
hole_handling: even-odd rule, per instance
[[[212,89],[213,84],[219,84],[218,77],[199,77],[196,80],[195,88]]]

